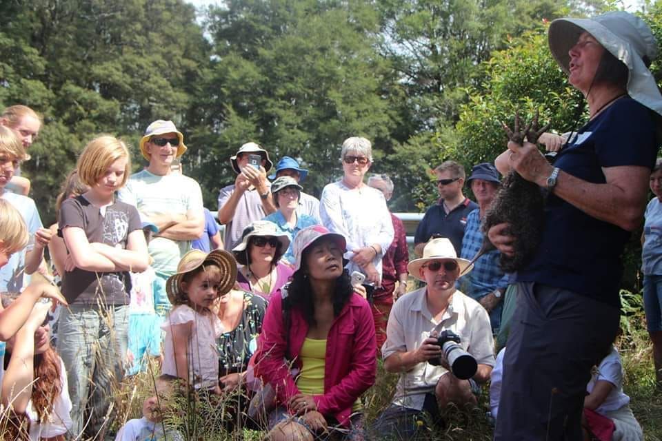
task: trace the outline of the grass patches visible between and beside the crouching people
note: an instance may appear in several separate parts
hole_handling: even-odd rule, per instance
[[[662,441],[662,393],[656,392],[654,386],[654,371],[652,365],[652,347],[645,331],[645,319],[641,305],[641,295],[623,293],[623,309],[626,313],[621,318],[623,334],[616,342],[623,358],[625,368],[624,389],[630,398],[630,406],[637,420],[643,427],[646,441]],[[377,372],[377,382],[363,396],[363,409],[366,425],[369,427],[379,413],[388,407],[395,390],[397,376],[386,373],[381,362]],[[118,410],[117,427],[120,422],[129,418],[141,417],[141,404],[144,397],[152,394],[153,382],[148,374],[131,378],[123,384],[121,391],[115,396],[115,405]],[[212,407],[212,413],[219,413],[224,403],[213,405],[210,403],[198,403],[194,413],[200,416],[201,409]],[[183,418],[187,411],[192,409],[186,402],[177,402],[179,412],[177,418]],[[184,409],[184,410],[182,410]],[[479,407],[470,411],[459,409],[448,409],[443,414],[448,423],[445,429],[430,433],[430,438],[441,441],[489,441],[492,440],[492,427],[485,416],[489,410],[488,387],[483,387],[483,394],[479,400]],[[209,409],[208,409],[209,411]],[[174,421],[170,418],[170,421]],[[179,421],[181,423],[181,421]],[[250,431],[244,429],[237,433],[228,433],[219,427],[216,418],[192,418],[190,424],[195,426],[197,436],[200,440],[247,440],[257,441],[264,438],[265,433],[261,431]],[[189,437],[191,439],[193,437]],[[426,437],[427,438],[427,437]],[[387,439],[380,434],[376,439]],[[410,441],[410,440],[408,440]]]

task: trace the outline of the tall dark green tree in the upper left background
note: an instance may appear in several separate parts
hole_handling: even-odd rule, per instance
[[[210,47],[182,0],[2,3],[0,104],[45,116],[23,170],[50,223],[61,180],[94,135],[122,136],[139,166],[137,141],[151,121],[185,124]]]

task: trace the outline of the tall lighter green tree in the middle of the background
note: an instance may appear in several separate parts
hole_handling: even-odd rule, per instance
[[[398,86],[375,50],[377,25],[362,2],[239,0],[213,8],[214,60],[197,126],[203,187],[213,193],[234,182],[228,158],[247,141],[274,160],[300,158],[314,170],[304,183],[310,192],[341,173],[346,137],[367,136],[383,151],[397,116],[386,96]]]

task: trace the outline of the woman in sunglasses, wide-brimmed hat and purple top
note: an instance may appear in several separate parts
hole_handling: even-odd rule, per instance
[[[237,284],[244,291],[269,298],[292,276],[292,267],[281,261],[290,246],[287,233],[268,220],[256,220],[243,230],[241,243],[232,249],[241,265]]]

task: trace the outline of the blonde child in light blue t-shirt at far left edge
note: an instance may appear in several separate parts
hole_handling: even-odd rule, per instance
[[[26,150],[21,141],[8,127],[0,125],[0,198],[8,201],[19,210],[28,226],[30,241],[27,247],[15,252],[8,263],[0,269],[0,291],[19,292],[23,289],[24,274],[37,271],[43,259],[43,249],[52,236],[43,227],[37,206],[28,196],[5,190],[21,161],[26,158]]]

